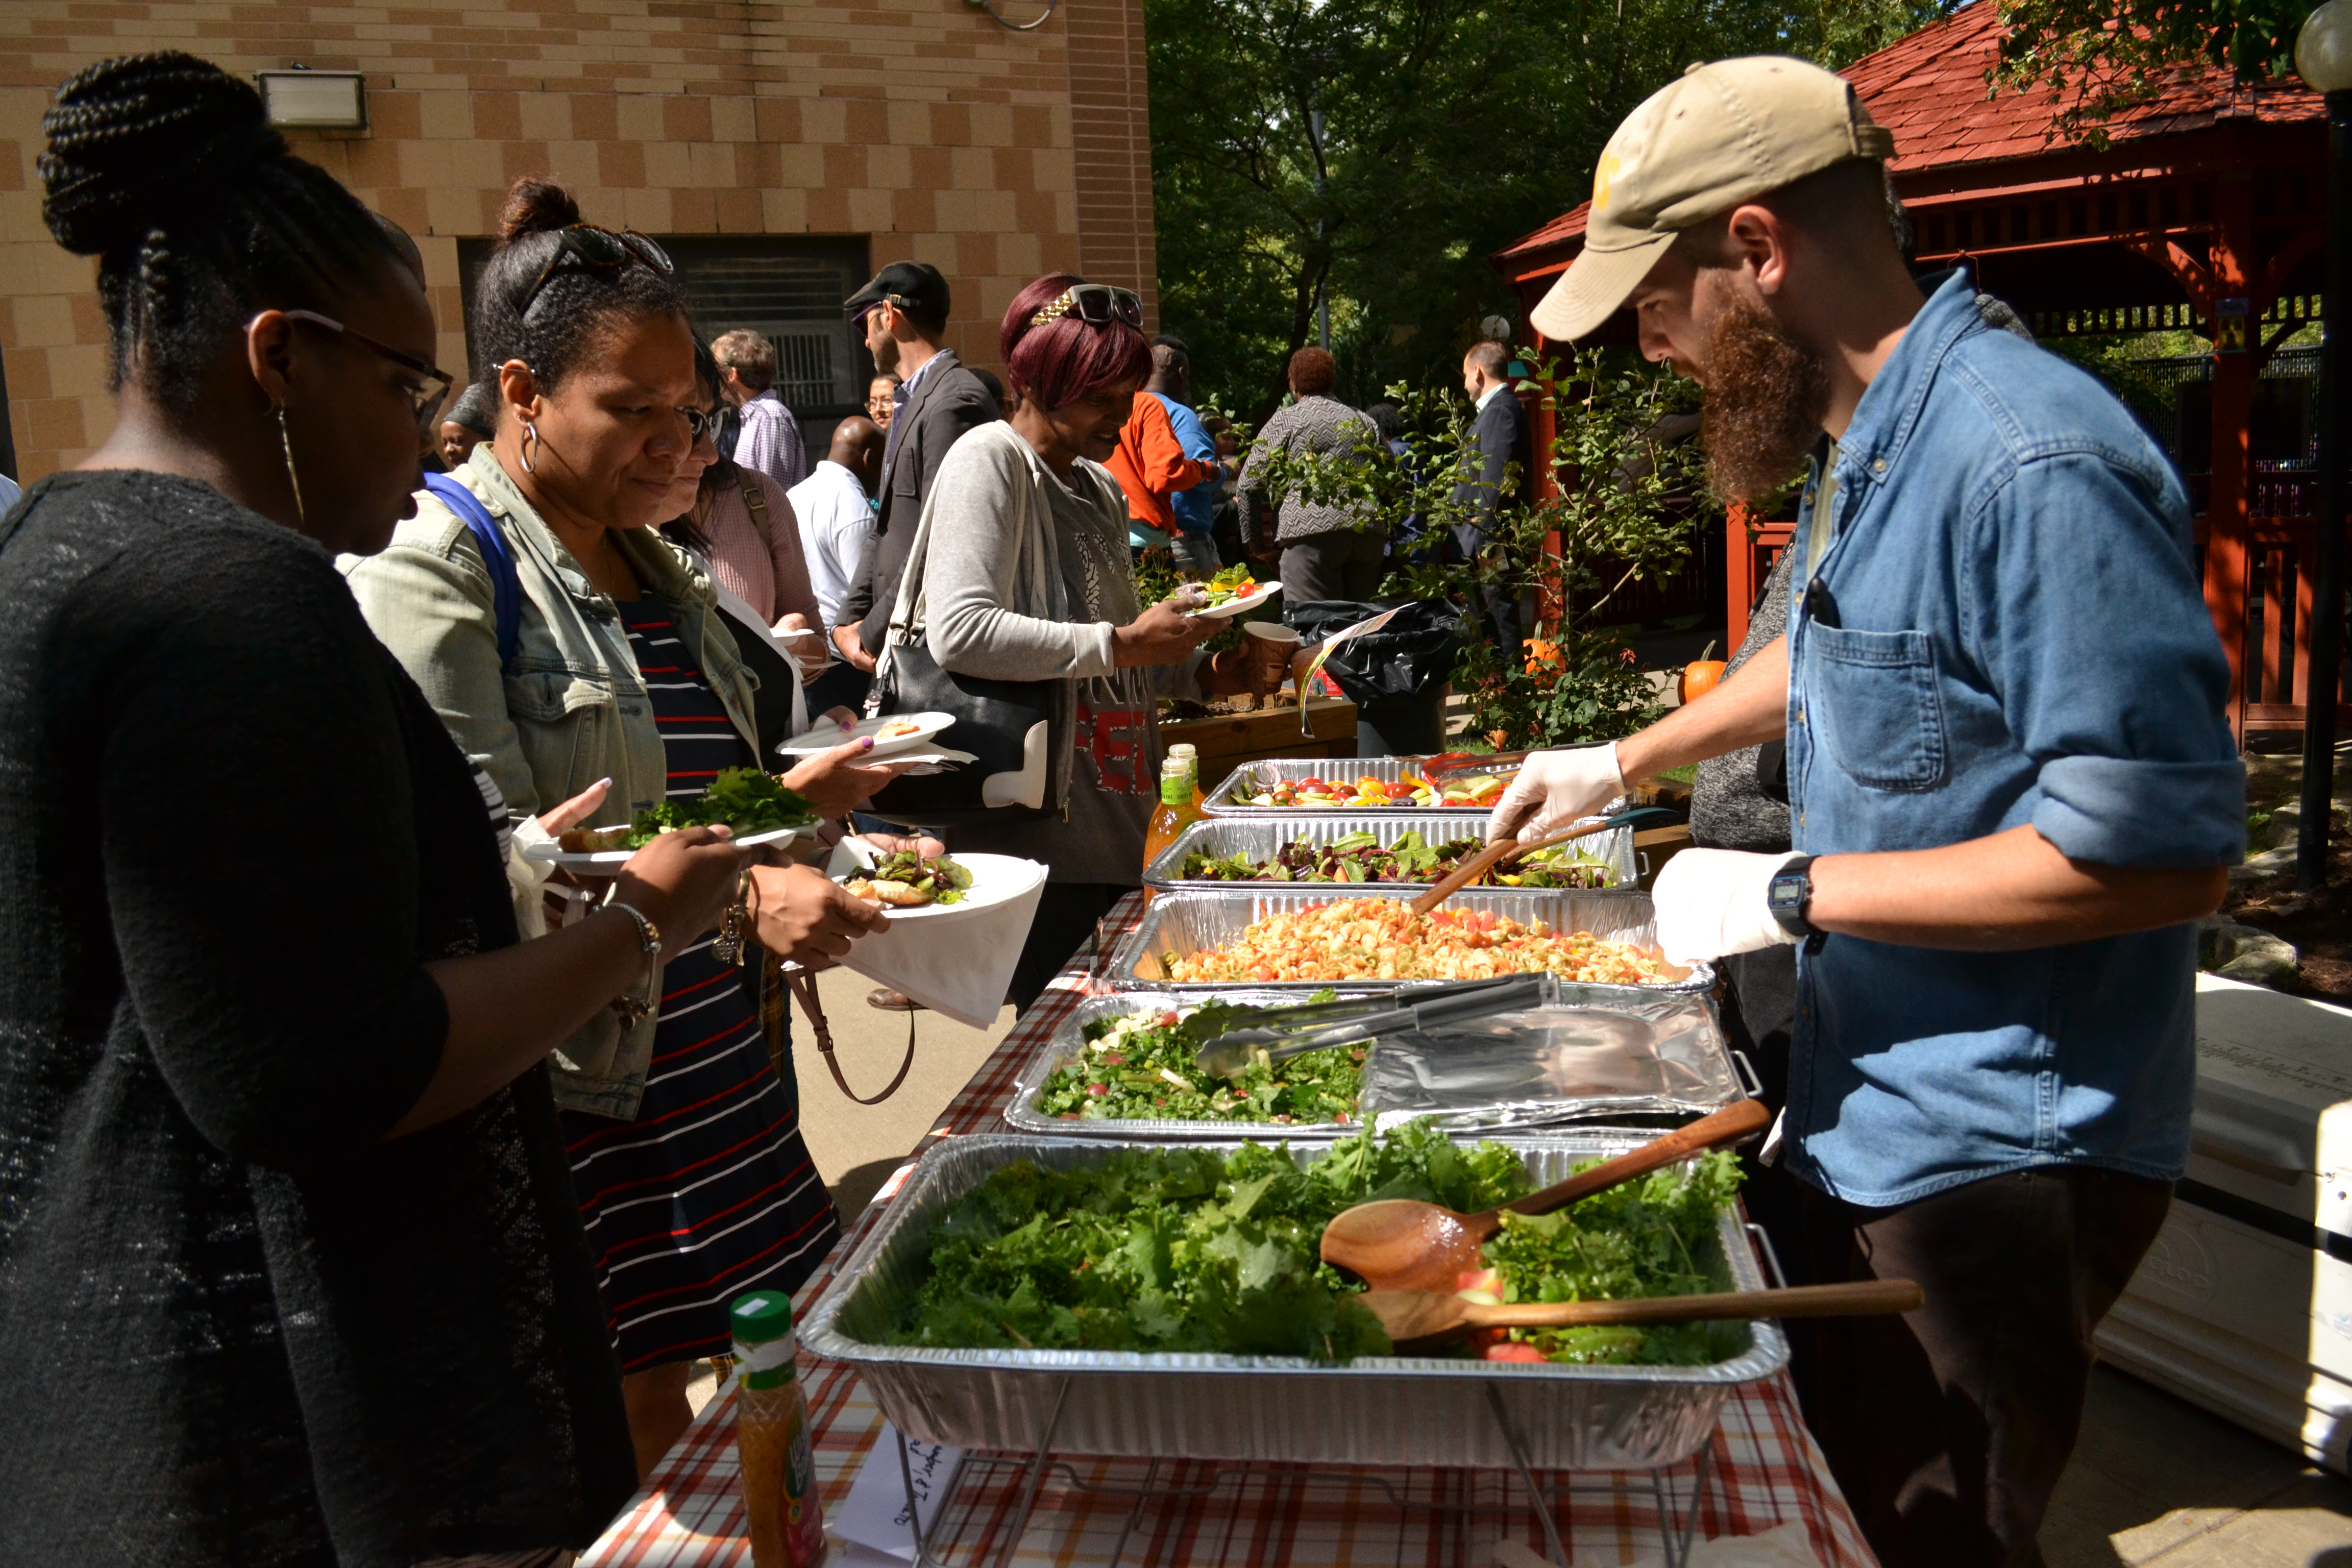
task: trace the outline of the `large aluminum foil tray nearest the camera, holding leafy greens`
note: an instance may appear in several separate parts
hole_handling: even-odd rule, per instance
[[[1621,1154],[1625,1133],[1505,1138],[1529,1175]],[[1378,1356],[1317,1366],[1294,1356],[1141,1354],[1089,1349],[929,1349],[880,1345],[922,1286],[929,1237],[948,1204],[1021,1159],[1073,1168],[1115,1145],[983,1133],[934,1145],[906,1190],[826,1286],[800,1342],[856,1368],[908,1436],[988,1450],[1301,1460],[1317,1465],[1461,1465],[1508,1469],[1498,1396],[1536,1469],[1675,1465],[1715,1432],[1729,1389],[1788,1363],[1776,1324],[1750,1324],[1748,1347],[1712,1366],[1498,1366]],[[1237,1150],[1237,1140],[1195,1145]],[[1317,1147],[1291,1147],[1310,1164]],[[1736,1206],[1717,1222],[1719,1288],[1757,1291],[1762,1269]]]

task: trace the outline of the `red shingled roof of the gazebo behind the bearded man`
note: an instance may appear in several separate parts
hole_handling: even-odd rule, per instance
[[[2049,87],[2004,89],[1985,99],[1985,73],[1999,42],[1997,0],[1976,0],[1945,21],[1929,24],[1839,75],[1853,82],[1870,118],[1896,136],[1896,174],[1950,169],[1999,158],[2034,158],[2053,150],[2049,127],[2058,94]],[[2183,66],[2171,73],[2157,101],[2107,122],[2117,143],[2143,136],[2194,132],[2223,120],[2324,120],[2319,94],[2296,80],[2239,87],[2216,66]],[[1531,235],[1496,252],[1498,263],[1545,252],[1585,233],[1590,202],[1566,212]]]

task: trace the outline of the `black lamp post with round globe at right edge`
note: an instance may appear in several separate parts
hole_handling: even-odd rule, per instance
[[[2328,882],[2328,802],[2336,795],[2336,689],[2343,675],[2345,494],[2352,461],[2352,0],[2328,0],[2296,38],[2296,75],[2328,103],[2328,277],[2319,350],[2319,562],[2303,703],[2303,823],[2296,886]],[[2343,331],[2338,331],[2343,327]]]

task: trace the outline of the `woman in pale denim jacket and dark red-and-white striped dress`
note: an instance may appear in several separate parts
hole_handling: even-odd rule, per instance
[[[764,766],[710,576],[659,534],[710,458],[684,284],[661,247],[581,223],[543,179],[515,183],[499,230],[473,329],[499,381],[496,435],[449,475],[461,494],[419,494],[350,585],[517,811],[609,780],[595,820],[628,823]],[[485,550],[520,585],[506,649]],[[844,813],[894,776],[861,757],[837,748],[786,785]],[[746,905],[762,943],[816,964],[880,924],[804,865],[753,872]],[[727,1349],[734,1295],[795,1288],[840,1234],[797,1091],[769,1065],[757,983],[760,966],[710,943],[666,950],[659,1009],[604,1013],[555,1058],[642,1467],[684,1429],[689,1366]]]

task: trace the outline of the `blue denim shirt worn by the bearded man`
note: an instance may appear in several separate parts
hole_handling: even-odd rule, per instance
[[[1987,329],[1959,275],[1870,383],[1835,477],[1828,552],[1790,590],[1799,851],[2032,823],[2100,865],[2244,856],[2187,496],[2105,388]],[[2025,952],[1806,940],[1795,1173],[1870,1206],[2049,1164],[2178,1178],[2194,947],[2194,926]]]

